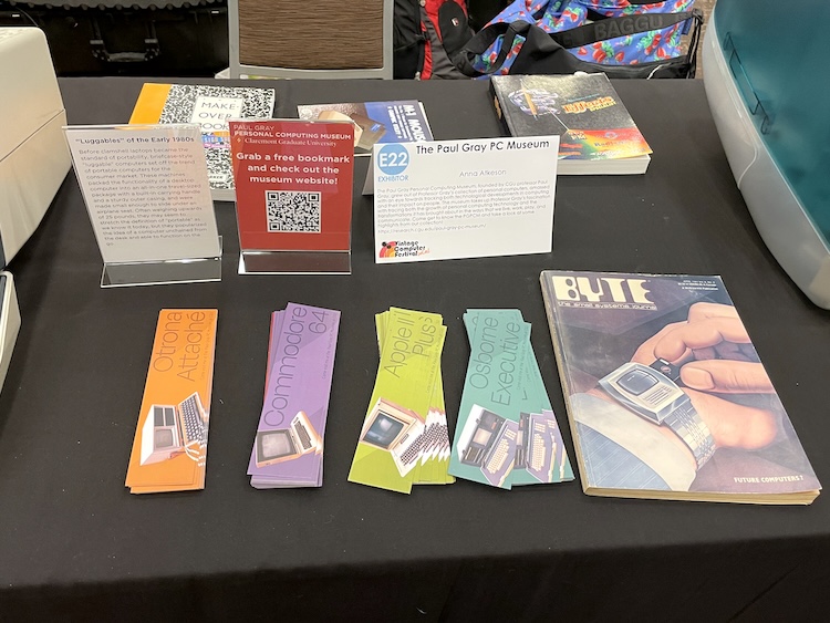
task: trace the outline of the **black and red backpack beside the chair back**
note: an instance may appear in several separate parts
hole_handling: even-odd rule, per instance
[[[466,77],[450,55],[473,37],[466,0],[395,0],[394,77]]]

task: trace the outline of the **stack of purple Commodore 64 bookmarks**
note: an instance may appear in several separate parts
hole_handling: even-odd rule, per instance
[[[248,465],[253,487],[322,485],[339,326],[335,310],[289,303],[272,314],[270,368]]]

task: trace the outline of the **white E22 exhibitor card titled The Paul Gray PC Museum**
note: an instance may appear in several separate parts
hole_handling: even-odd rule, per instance
[[[549,252],[558,153],[558,136],[375,145],[375,261]]]

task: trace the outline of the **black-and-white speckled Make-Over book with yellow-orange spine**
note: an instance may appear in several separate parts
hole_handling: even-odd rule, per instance
[[[228,120],[270,118],[273,104],[273,89],[146,83],[138,94],[129,123],[199,124],[214,200],[232,201],[236,196]]]

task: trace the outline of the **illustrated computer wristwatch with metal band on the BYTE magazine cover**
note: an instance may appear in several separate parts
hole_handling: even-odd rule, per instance
[[[699,469],[715,454],[715,439],[676,378],[679,368],[664,360],[651,366],[630,362],[601,378],[600,386],[639,416],[674,430],[692,450]]]

